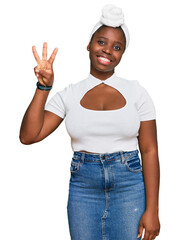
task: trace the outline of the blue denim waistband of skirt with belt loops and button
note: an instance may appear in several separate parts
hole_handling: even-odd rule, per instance
[[[119,151],[114,153],[99,153],[99,154],[93,154],[93,153],[85,153],[81,151],[74,151],[73,152],[73,158],[77,160],[82,161],[88,161],[88,162],[97,162],[101,160],[126,160],[128,157],[132,155],[136,155],[139,153],[139,150],[133,150],[133,151]]]

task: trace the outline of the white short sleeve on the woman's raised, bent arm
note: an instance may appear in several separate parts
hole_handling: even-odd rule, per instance
[[[45,110],[53,112],[61,118],[66,116],[66,102],[68,99],[69,86],[57,92],[45,105]]]

